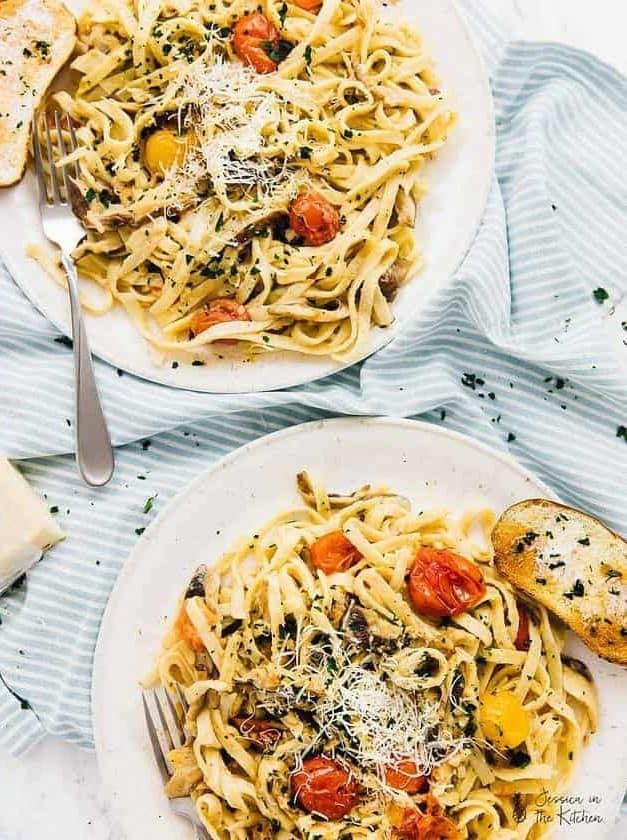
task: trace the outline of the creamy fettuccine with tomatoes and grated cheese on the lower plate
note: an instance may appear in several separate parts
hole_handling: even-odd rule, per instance
[[[298,487],[179,604],[149,679],[189,703],[168,795],[215,840],[545,836],[534,804],[567,785],[596,696],[497,574],[492,512]]]

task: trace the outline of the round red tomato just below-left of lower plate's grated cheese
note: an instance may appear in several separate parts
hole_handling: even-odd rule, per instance
[[[292,774],[292,795],[306,811],[329,820],[346,816],[359,800],[359,782],[339,761],[317,755],[303,761],[301,770]]]

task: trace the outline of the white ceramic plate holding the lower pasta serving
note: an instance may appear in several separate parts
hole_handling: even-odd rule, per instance
[[[299,499],[295,474],[308,469],[334,491],[388,484],[415,508],[460,510],[487,502],[497,511],[550,495],[507,455],[410,420],[317,421],[261,438],[223,458],[173,499],[148,528],[107,606],[92,692],[96,749],[112,814],[128,840],[187,837],[161,790],[145,731],[138,680],[159,650],[191,573],[245,532]],[[573,793],[601,824],[562,826],[556,837],[595,838],[611,829],[625,787],[627,671],[598,659],[576,639],[570,650],[592,670],[600,729],[579,765]],[[599,802],[590,803],[590,797]],[[570,808],[571,806],[565,806]]]

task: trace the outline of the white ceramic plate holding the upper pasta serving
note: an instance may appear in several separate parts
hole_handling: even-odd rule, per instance
[[[66,0],[78,13],[85,0]],[[424,33],[443,86],[450,91],[459,124],[426,177],[430,193],[422,202],[416,235],[426,265],[395,302],[397,321],[375,329],[364,356],[382,347],[415,317],[427,299],[455,271],[481,220],[493,170],[494,118],[487,75],[453,0],[400,0],[386,14],[402,16]],[[44,242],[31,172],[15,187],[0,190],[1,251],[13,277],[35,306],[69,334],[66,294],[24,254],[30,242]],[[254,363],[218,359],[205,366],[155,364],[153,354],[121,307],[87,316],[92,351],[115,367],[182,388],[222,393],[264,391],[309,382],[343,365],[329,359],[275,353]],[[222,352],[222,351],[221,351]]]

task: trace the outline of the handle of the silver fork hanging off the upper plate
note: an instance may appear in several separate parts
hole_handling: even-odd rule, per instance
[[[67,273],[72,315],[76,387],[76,461],[83,480],[92,487],[100,487],[106,484],[113,475],[113,447],[96,387],[78,295],[76,266],[69,254],[61,254],[61,261]]]

